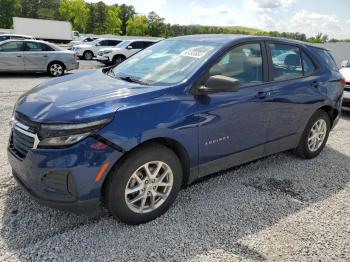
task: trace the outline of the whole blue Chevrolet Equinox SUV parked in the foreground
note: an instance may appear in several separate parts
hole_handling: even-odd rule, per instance
[[[8,158],[39,202],[89,215],[107,207],[139,224],[203,176],[286,150],[317,156],[344,84],[329,52],[307,43],[176,37],[22,95]]]

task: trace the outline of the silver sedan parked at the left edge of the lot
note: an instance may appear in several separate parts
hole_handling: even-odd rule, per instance
[[[47,72],[61,76],[79,68],[77,54],[39,40],[7,40],[0,43],[0,72]]]

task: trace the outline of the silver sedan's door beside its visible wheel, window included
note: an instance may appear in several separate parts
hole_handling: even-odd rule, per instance
[[[26,71],[46,71],[49,61],[49,46],[38,42],[24,42],[24,69]]]

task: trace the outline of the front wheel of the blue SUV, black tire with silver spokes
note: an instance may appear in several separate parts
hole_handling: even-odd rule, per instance
[[[131,152],[106,181],[105,202],[115,218],[141,224],[165,213],[182,185],[176,154],[161,144]]]

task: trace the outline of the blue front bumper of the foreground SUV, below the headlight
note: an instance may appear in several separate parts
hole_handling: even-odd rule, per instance
[[[8,160],[18,183],[39,203],[85,215],[101,211],[104,178],[122,153],[107,146],[92,149],[98,143],[89,137],[64,149],[31,149],[24,159],[8,149]],[[103,178],[96,175],[109,162]]]

